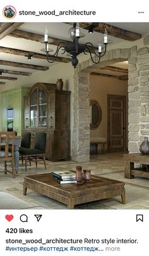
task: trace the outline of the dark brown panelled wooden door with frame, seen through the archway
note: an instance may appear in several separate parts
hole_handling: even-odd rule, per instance
[[[108,152],[126,151],[126,97],[107,95]]]

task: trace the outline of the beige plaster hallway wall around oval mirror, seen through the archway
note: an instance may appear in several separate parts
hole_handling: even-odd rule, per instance
[[[107,138],[107,94],[126,95],[128,102],[128,81],[104,76],[90,76],[90,99],[97,100],[102,109],[102,121],[97,129],[90,130],[90,137]],[[128,104],[126,104],[128,111],[127,106]]]

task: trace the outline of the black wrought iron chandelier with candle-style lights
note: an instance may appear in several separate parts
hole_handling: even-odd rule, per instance
[[[66,44],[65,42],[61,41],[57,45],[56,52],[54,54],[51,54],[49,52],[49,41],[48,41],[48,32],[47,28],[45,28],[45,35],[44,35],[44,43],[45,43],[45,53],[47,55],[47,61],[49,63],[53,63],[56,61],[58,57],[59,50],[62,51],[62,54],[69,53],[71,56],[71,63],[74,68],[76,68],[76,65],[78,64],[78,58],[77,56],[80,55],[80,53],[84,53],[85,55],[87,53],[90,53],[90,58],[92,59],[92,62],[94,64],[98,64],[100,62],[100,58],[103,57],[107,51],[107,44],[108,44],[108,38],[107,38],[107,30],[105,30],[104,34],[104,52],[102,53],[102,43],[101,41],[98,42],[98,50],[95,50],[95,47],[92,43],[88,42],[86,44],[80,44],[79,39],[80,37],[84,37],[85,34],[83,34],[80,30],[80,27],[78,24],[74,23],[73,27],[69,29],[68,31],[69,37],[73,39],[73,42]],[[93,58],[93,55],[96,56],[95,60]],[[50,60],[50,58],[55,58],[54,60]]]

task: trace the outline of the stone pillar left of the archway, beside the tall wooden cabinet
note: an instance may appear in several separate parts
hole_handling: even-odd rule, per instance
[[[90,74],[75,71],[74,89],[72,158],[85,162],[90,159]]]

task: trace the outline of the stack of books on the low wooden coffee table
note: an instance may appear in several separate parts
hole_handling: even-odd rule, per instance
[[[71,171],[51,172],[51,174],[56,178],[59,184],[77,183],[75,180],[76,173]]]

